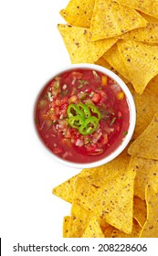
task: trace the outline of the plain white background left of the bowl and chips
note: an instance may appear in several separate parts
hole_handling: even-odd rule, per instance
[[[33,122],[38,91],[70,64],[57,29],[65,23],[59,10],[67,4],[0,0],[0,237],[9,253],[17,242],[60,241],[63,217],[70,212],[51,191],[79,169],[52,159]]]

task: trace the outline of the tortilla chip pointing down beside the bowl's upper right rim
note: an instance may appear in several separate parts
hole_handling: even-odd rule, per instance
[[[158,46],[131,40],[121,40],[117,45],[135,91],[142,94],[148,82],[158,74]]]

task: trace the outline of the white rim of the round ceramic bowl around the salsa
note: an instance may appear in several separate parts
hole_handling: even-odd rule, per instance
[[[99,166],[99,165],[107,164],[112,159],[114,159],[116,156],[120,155],[121,152],[127,146],[127,144],[129,144],[129,142],[131,141],[132,133],[134,131],[135,121],[136,121],[135,104],[134,104],[134,101],[133,101],[133,98],[132,98],[132,93],[131,93],[131,91],[129,91],[128,87],[121,80],[121,78],[118,77],[115,73],[113,73],[109,69],[105,69],[105,68],[103,68],[101,66],[98,66],[98,65],[95,65],[95,64],[72,64],[68,67],[59,69],[58,72],[56,72],[55,74],[52,74],[51,80],[53,78],[57,77],[59,74],[65,72],[65,71],[71,70],[71,69],[92,69],[92,70],[100,71],[101,73],[110,77],[112,80],[115,80],[120,85],[121,90],[124,91],[124,93],[126,95],[126,98],[127,98],[128,104],[129,104],[129,110],[130,110],[130,125],[129,125],[129,129],[128,129],[128,133],[124,137],[124,140],[119,145],[119,147],[116,148],[116,150],[114,152],[112,152],[111,155],[105,156],[102,159],[100,159],[99,161],[88,163],[88,164],[87,163],[86,164],[85,163],[84,164],[80,164],[80,163],[78,164],[78,163],[70,162],[70,161],[67,161],[63,158],[58,157],[57,155],[53,154],[49,150],[47,150],[47,152],[52,155],[53,160],[57,160],[58,162],[60,162],[63,165],[68,165],[70,167],[75,167],[75,168],[79,168],[79,169],[91,168],[91,167],[96,167],[96,166]],[[48,80],[47,80],[47,82],[48,82]],[[46,86],[46,84],[44,85],[44,87]],[[43,88],[42,88],[42,90],[43,90]],[[47,148],[45,146],[45,144],[43,144],[43,145],[44,145],[44,148]]]

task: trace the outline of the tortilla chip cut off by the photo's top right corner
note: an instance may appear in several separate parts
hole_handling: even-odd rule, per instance
[[[116,0],[121,5],[127,5],[136,10],[141,11],[149,16],[158,18],[158,2],[157,0]]]

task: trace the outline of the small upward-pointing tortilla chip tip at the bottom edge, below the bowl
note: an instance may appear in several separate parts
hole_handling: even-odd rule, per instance
[[[82,238],[104,238],[104,234],[100,229],[98,219],[90,219],[87,228],[85,229]]]

